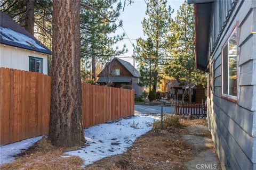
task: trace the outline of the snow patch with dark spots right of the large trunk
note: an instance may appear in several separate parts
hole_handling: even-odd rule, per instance
[[[149,123],[153,117],[139,115],[122,119],[115,123],[103,123],[85,129],[86,143],[79,150],[65,154],[78,156],[84,160],[84,165],[112,155],[122,154],[132,143],[152,129]]]

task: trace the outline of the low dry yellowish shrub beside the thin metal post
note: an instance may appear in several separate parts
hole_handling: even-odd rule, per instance
[[[153,129],[169,129],[170,127],[173,128],[180,128],[180,117],[177,115],[164,115],[163,117],[163,128],[161,127],[161,120],[157,120],[153,123]]]

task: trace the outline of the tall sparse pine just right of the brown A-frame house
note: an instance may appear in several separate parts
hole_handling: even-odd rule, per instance
[[[165,0],[149,0],[147,2],[146,15],[148,18],[144,18],[142,21],[142,27],[144,34],[151,39],[153,43],[154,60],[145,60],[147,64],[149,62],[154,72],[153,75],[153,92],[156,92],[157,82],[159,82],[159,62],[164,58],[164,50],[166,43],[164,39],[169,32],[169,25],[171,23],[171,14],[173,10],[169,6],[167,8]],[[143,46],[144,43],[140,43],[138,40],[138,46]],[[140,47],[138,47],[140,48]],[[151,55],[150,55],[151,56]],[[140,56],[139,56],[140,57]],[[140,65],[145,65],[141,62]],[[143,79],[143,78],[142,78]]]

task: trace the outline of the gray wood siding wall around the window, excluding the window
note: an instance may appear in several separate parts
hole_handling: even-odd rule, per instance
[[[214,1],[214,8],[226,1]],[[216,9],[213,15],[219,15]],[[219,12],[220,13],[220,12]],[[219,17],[212,22],[220,24]],[[221,48],[237,25],[238,100],[222,98]],[[213,29],[215,30],[215,28]],[[216,31],[216,30],[215,30]],[[256,2],[237,1],[209,63],[207,117],[222,169],[256,169]],[[210,34],[214,32],[211,31]],[[209,82],[208,82],[209,83]]]

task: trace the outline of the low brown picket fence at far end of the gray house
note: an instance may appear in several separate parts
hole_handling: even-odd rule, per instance
[[[206,116],[207,109],[204,102],[202,103],[176,103],[175,105],[175,113],[177,115],[193,115],[199,116],[203,115]]]

